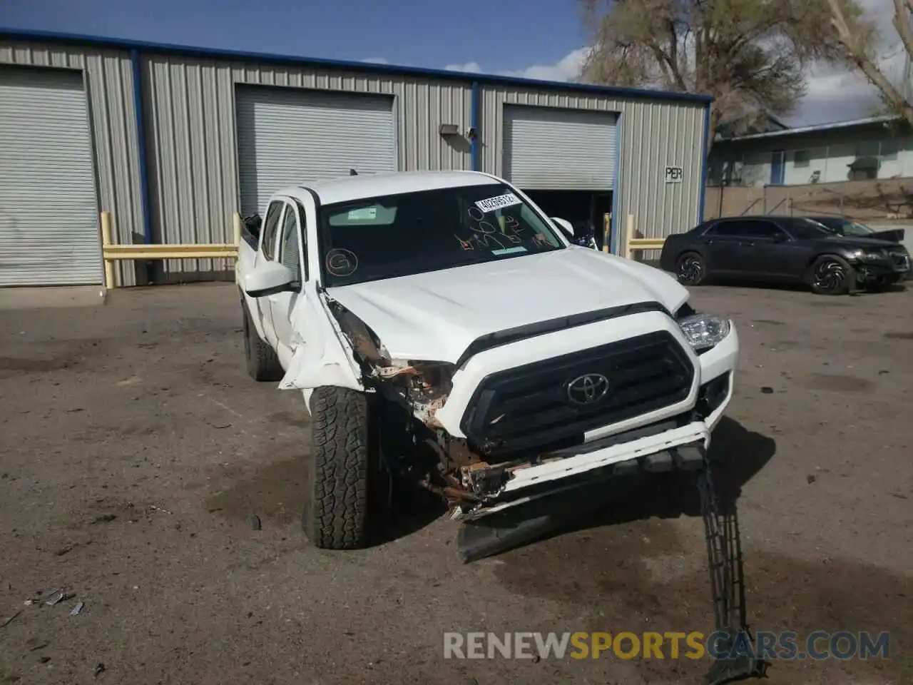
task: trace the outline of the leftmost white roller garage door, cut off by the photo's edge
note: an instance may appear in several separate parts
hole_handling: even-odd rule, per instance
[[[0,68],[0,285],[102,280],[82,74]]]

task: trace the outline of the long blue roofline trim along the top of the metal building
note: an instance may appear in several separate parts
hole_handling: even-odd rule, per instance
[[[421,67],[399,67],[390,64],[373,64],[371,62],[352,62],[339,59],[301,58],[289,55],[269,55],[258,52],[244,52],[226,50],[221,48],[191,47],[171,45],[167,43],[150,43],[142,40],[128,40],[123,38],[109,38],[99,36],[80,36],[77,34],[56,33],[53,31],[36,31],[16,28],[0,27],[0,37],[16,40],[44,40],[58,43],[76,43],[94,47],[110,47],[115,49],[142,50],[171,55],[184,55],[198,58],[226,58],[244,61],[270,62],[273,64],[310,65],[323,68],[357,69],[358,71],[398,74],[401,76],[416,76],[434,79],[457,81],[475,81],[477,83],[521,86],[525,88],[549,88],[551,90],[574,90],[578,92],[592,92],[603,95],[612,95],[621,98],[637,98],[640,100],[679,100],[686,102],[709,102],[713,98],[709,95],[697,93],[677,93],[666,90],[645,90],[637,88],[618,88],[614,86],[594,86],[584,83],[564,83],[560,81],[544,81],[539,79],[519,79],[513,76],[495,76],[494,74],[469,74],[447,69],[432,69]]]

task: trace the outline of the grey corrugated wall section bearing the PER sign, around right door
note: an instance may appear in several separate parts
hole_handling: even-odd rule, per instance
[[[505,104],[617,111],[621,157],[618,217],[635,215],[644,237],[665,237],[698,222],[704,105],[687,101],[615,100],[595,93],[480,88],[481,169],[502,174]],[[680,166],[682,183],[666,184],[666,166]]]

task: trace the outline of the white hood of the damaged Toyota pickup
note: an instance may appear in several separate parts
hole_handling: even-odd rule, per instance
[[[479,336],[561,316],[657,301],[687,300],[653,267],[590,248],[429,271],[328,288],[397,359],[455,363]]]

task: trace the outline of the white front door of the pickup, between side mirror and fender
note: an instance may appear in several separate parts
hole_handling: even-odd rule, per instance
[[[302,230],[304,226],[301,219],[299,206],[294,201],[287,200],[279,223],[276,251],[277,260],[295,274],[295,281],[299,287],[297,290],[278,292],[265,298],[269,302],[272,329],[276,335],[275,350],[283,369],[289,368],[292,355],[299,344],[304,342],[300,333],[291,325],[291,313],[299,298],[304,297],[302,286],[307,279],[307,272],[303,266],[306,261]]]

